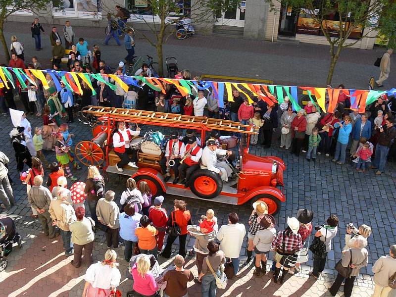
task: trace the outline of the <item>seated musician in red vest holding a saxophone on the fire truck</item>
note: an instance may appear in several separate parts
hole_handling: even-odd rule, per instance
[[[166,174],[165,183],[170,179],[170,168],[175,173],[175,179],[173,184],[176,185],[179,182],[179,165],[182,156],[184,155],[185,146],[184,143],[179,140],[179,134],[177,132],[170,136],[170,140],[166,144],[165,155],[159,161],[162,173]],[[171,164],[169,164],[171,161]],[[174,164],[173,164],[174,162]]]

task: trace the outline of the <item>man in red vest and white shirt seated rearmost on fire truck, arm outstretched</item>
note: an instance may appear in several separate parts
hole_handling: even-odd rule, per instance
[[[133,136],[140,134],[140,128],[136,128],[133,131],[130,128],[126,128],[125,122],[118,122],[118,131],[113,134],[113,146],[114,152],[121,159],[115,167],[119,172],[124,171],[122,167],[129,165],[133,168],[138,168],[136,163],[138,162],[138,150],[130,147]],[[130,158],[128,154],[132,154]]]

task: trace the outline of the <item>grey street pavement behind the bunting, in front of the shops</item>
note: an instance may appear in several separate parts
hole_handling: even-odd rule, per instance
[[[73,24],[72,24],[73,25]],[[44,25],[50,32],[52,25]],[[126,50],[123,44],[117,47],[114,40],[110,46],[102,45],[103,28],[73,27],[77,39],[84,37],[90,46],[98,44],[101,58],[115,69],[118,62],[124,60]],[[58,26],[58,32],[63,27]],[[149,34],[149,33],[148,33]],[[29,23],[7,22],[5,37],[9,42],[11,35],[25,46],[25,57],[37,55],[43,66],[49,66],[51,48],[49,35],[42,36],[44,50],[34,50],[34,39]],[[62,37],[63,40],[63,37]],[[123,40],[121,40],[122,42]],[[135,54],[146,59],[146,54],[156,57],[155,48],[137,34]],[[371,76],[378,78],[379,68],[373,65],[384,49],[363,50],[343,49],[337,63],[333,86],[344,84],[350,89],[367,89]],[[265,41],[229,38],[224,36],[202,36],[186,40],[177,40],[170,36],[163,48],[164,58],[175,56],[180,69],[190,69],[195,74],[215,74],[246,78],[273,80],[275,84],[292,86],[325,87],[330,64],[329,47],[322,45],[270,43]],[[0,61],[3,60],[0,52]],[[232,61],[232,62],[230,62]],[[164,66],[165,67],[165,66]],[[166,68],[165,68],[166,69]],[[396,86],[396,58],[392,59],[390,78],[384,82],[384,88],[390,90]]]

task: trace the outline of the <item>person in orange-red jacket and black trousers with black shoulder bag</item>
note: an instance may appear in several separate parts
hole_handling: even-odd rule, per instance
[[[175,222],[180,227],[180,235],[179,236],[168,236],[168,240],[166,242],[166,246],[163,252],[160,254],[162,257],[169,259],[172,251],[172,245],[175,242],[176,238],[179,238],[179,255],[183,258],[186,257],[186,239],[187,239],[187,225],[192,225],[191,214],[190,211],[186,209],[186,202],[183,200],[174,200],[174,211],[171,212],[168,219],[168,227],[172,226],[172,223]]]

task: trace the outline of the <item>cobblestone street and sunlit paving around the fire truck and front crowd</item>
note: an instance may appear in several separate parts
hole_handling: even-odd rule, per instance
[[[42,120],[38,117],[29,116],[32,127],[41,126]],[[27,205],[26,187],[19,182],[16,172],[14,152],[9,144],[8,133],[11,130],[11,121],[8,117],[2,117],[0,130],[1,148],[10,158],[10,174],[15,182],[13,186],[17,205],[8,212],[2,213],[12,215],[18,226],[18,232],[23,235],[24,245],[22,250],[15,249],[9,255],[10,264],[5,272],[0,275],[0,280],[6,284],[9,296],[44,296],[40,292],[46,292],[45,296],[81,296],[83,288],[82,276],[86,267],[74,269],[69,265],[71,258],[63,256],[60,237],[55,241],[49,241],[43,236],[38,219],[30,217],[30,207]],[[145,127],[143,127],[145,129]],[[74,143],[81,140],[91,140],[91,129],[81,123],[70,125],[71,133],[76,135]],[[277,155],[281,157],[286,165],[285,171],[285,193],[286,203],[282,205],[281,211],[276,215],[277,229],[286,225],[288,216],[296,215],[297,209],[306,207],[315,212],[313,224],[322,224],[330,213],[336,213],[340,218],[339,234],[334,238],[333,250],[329,253],[326,269],[319,281],[314,283],[307,279],[307,273],[311,269],[312,259],[302,266],[302,272],[288,279],[280,287],[270,282],[270,276],[256,278],[252,276],[252,266],[245,267],[246,243],[241,251],[241,278],[230,282],[222,296],[256,296],[257,292],[268,293],[268,296],[327,296],[326,288],[329,281],[335,277],[333,267],[341,257],[341,248],[344,246],[345,226],[349,222],[355,225],[366,223],[373,228],[373,236],[369,238],[369,265],[361,269],[361,275],[355,286],[355,295],[369,296],[372,290],[371,267],[375,260],[381,255],[388,253],[389,247],[395,244],[396,230],[391,226],[395,222],[395,167],[391,164],[390,171],[381,176],[374,175],[373,171],[365,174],[356,173],[349,165],[339,166],[330,161],[329,157],[318,156],[316,163],[308,163],[304,155],[299,158],[291,155],[289,151],[276,148],[278,142],[274,140],[273,147],[263,149],[253,146],[250,152],[260,156]],[[55,160],[53,152],[46,152],[50,161]],[[85,181],[87,169],[75,172],[76,176]],[[45,180],[48,172],[45,173]],[[124,190],[126,178],[120,180],[117,176],[110,174],[107,188],[116,192],[117,202],[121,192]],[[71,182],[69,181],[69,186]],[[165,197],[165,208],[171,209],[172,200],[175,197]],[[237,212],[241,221],[247,225],[248,215],[251,212],[250,204],[242,206],[223,205],[215,202],[194,200],[187,198],[188,209],[191,210],[193,221],[196,222],[206,209],[213,208],[218,217],[219,225],[227,222],[229,212]],[[86,207],[88,210],[88,207]],[[104,236],[100,234],[96,238],[94,257],[100,260],[104,254]],[[193,240],[188,240],[188,248],[193,245]],[[27,248],[29,246],[29,248]],[[174,247],[176,250],[176,247]],[[26,253],[26,255],[25,255]],[[118,253],[122,274],[125,273],[125,262],[122,260],[121,248]],[[270,256],[270,258],[272,255]],[[163,259],[162,259],[163,260]],[[192,258],[188,258],[188,267],[193,267]],[[167,263],[163,264],[166,266]],[[46,286],[47,285],[47,286]],[[194,283],[190,284],[193,287]],[[127,292],[130,289],[130,281],[124,281],[121,289]],[[199,287],[190,290],[191,296],[199,296]]]

